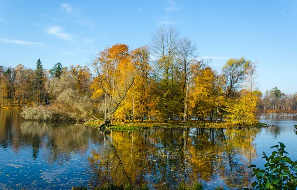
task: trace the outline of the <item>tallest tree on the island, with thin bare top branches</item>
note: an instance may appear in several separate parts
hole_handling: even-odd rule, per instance
[[[176,56],[179,44],[179,31],[173,27],[158,28],[151,35],[151,50],[157,58],[156,66],[160,71],[158,94],[159,110],[163,118],[173,119],[181,114],[181,90],[177,80]]]

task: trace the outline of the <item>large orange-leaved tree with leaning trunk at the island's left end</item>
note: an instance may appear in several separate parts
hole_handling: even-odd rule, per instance
[[[104,107],[107,109],[107,114],[103,126],[109,121],[112,122],[113,114],[134,82],[129,47],[125,44],[106,47],[99,52],[93,66],[96,71],[96,78],[92,84],[93,96],[101,97],[106,102]]]

